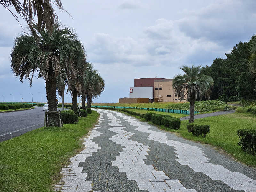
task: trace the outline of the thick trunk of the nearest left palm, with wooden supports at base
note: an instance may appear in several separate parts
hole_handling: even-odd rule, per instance
[[[56,103],[56,77],[55,73],[53,72],[52,68],[49,67],[49,74],[48,74],[48,81],[45,81],[45,88],[46,88],[46,97],[47,102],[49,105],[49,112],[48,112],[48,119],[47,119],[47,126],[60,126],[59,114],[57,112],[57,103]]]

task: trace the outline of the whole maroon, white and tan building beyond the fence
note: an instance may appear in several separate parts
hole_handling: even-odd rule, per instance
[[[165,78],[134,79],[134,87],[130,87],[130,98],[120,98],[119,103],[180,102],[180,98],[175,97],[172,82],[173,79]],[[184,99],[181,102],[187,101]]]

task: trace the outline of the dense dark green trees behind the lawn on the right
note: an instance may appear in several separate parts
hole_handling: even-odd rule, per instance
[[[255,41],[255,36],[252,38]],[[201,74],[211,76],[214,80],[210,99],[217,99],[225,94],[227,100],[231,96],[244,99],[255,99],[255,77],[250,74],[247,63],[250,56],[250,46],[247,42],[239,42],[233,47],[231,53],[226,53],[227,59],[216,58],[211,66],[203,67]],[[256,50],[256,49],[254,49]],[[253,58],[251,58],[253,60]]]

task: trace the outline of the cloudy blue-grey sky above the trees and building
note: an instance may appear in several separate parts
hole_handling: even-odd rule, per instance
[[[134,78],[173,78],[182,65],[211,65],[256,33],[255,1],[62,0],[62,25],[76,30],[88,61],[105,80],[94,102],[129,97]],[[20,22],[25,26],[22,19]],[[19,23],[0,5],[0,101],[46,101],[45,82],[20,83],[9,54]],[[12,94],[12,95],[11,95]],[[66,96],[65,96],[66,102]],[[71,102],[68,96],[68,102]]]

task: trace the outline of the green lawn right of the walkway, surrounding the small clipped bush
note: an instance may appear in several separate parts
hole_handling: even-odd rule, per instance
[[[220,147],[231,154],[238,161],[250,166],[256,166],[256,156],[252,156],[241,150],[238,143],[237,129],[256,128],[256,116],[249,113],[232,113],[221,116],[206,117],[196,119],[196,124],[210,125],[210,133],[205,138],[193,136],[188,133],[186,125],[188,121],[181,121],[180,130],[173,130],[180,133],[186,139],[200,141],[205,144],[211,144]]]

